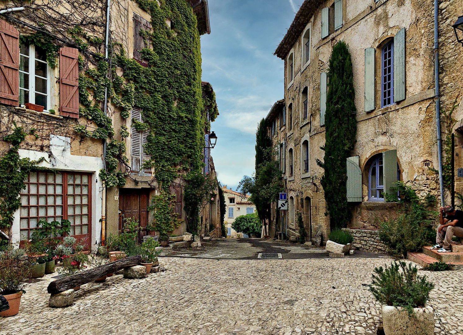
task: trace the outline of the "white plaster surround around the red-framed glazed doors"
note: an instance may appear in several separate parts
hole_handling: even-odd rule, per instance
[[[92,173],[92,230],[91,244],[92,249],[101,241],[101,190],[102,183],[98,173],[102,169],[103,161],[100,157],[71,155],[71,141],[69,137],[50,135],[50,152],[48,153],[34,150],[19,150],[21,158],[29,158],[36,161],[41,157],[45,161],[38,164],[44,168],[54,168],[61,171],[78,171]],[[19,210],[16,211],[12,226],[12,241],[16,247],[19,246]]]

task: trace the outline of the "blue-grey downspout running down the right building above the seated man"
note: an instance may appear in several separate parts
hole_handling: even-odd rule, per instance
[[[436,130],[439,164],[440,204],[444,206],[444,180],[442,177],[442,137],[440,134],[439,51],[438,51],[438,0],[434,0],[434,80],[436,85]]]

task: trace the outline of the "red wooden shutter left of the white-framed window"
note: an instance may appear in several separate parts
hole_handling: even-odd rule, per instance
[[[19,31],[0,20],[0,103],[19,105]]]

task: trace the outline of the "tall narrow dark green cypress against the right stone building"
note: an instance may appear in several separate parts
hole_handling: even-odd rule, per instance
[[[349,46],[340,41],[332,50],[328,70],[328,94],[325,114],[324,161],[317,163],[325,170],[320,182],[325,191],[326,214],[331,229],[347,227],[352,217],[347,202],[346,159],[354,149],[357,134],[354,104],[354,79]]]

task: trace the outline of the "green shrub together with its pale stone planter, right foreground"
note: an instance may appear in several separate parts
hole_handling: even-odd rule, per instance
[[[434,284],[419,276],[416,266],[394,261],[375,267],[369,290],[382,304],[382,324],[386,335],[434,334],[434,314],[427,306]]]

